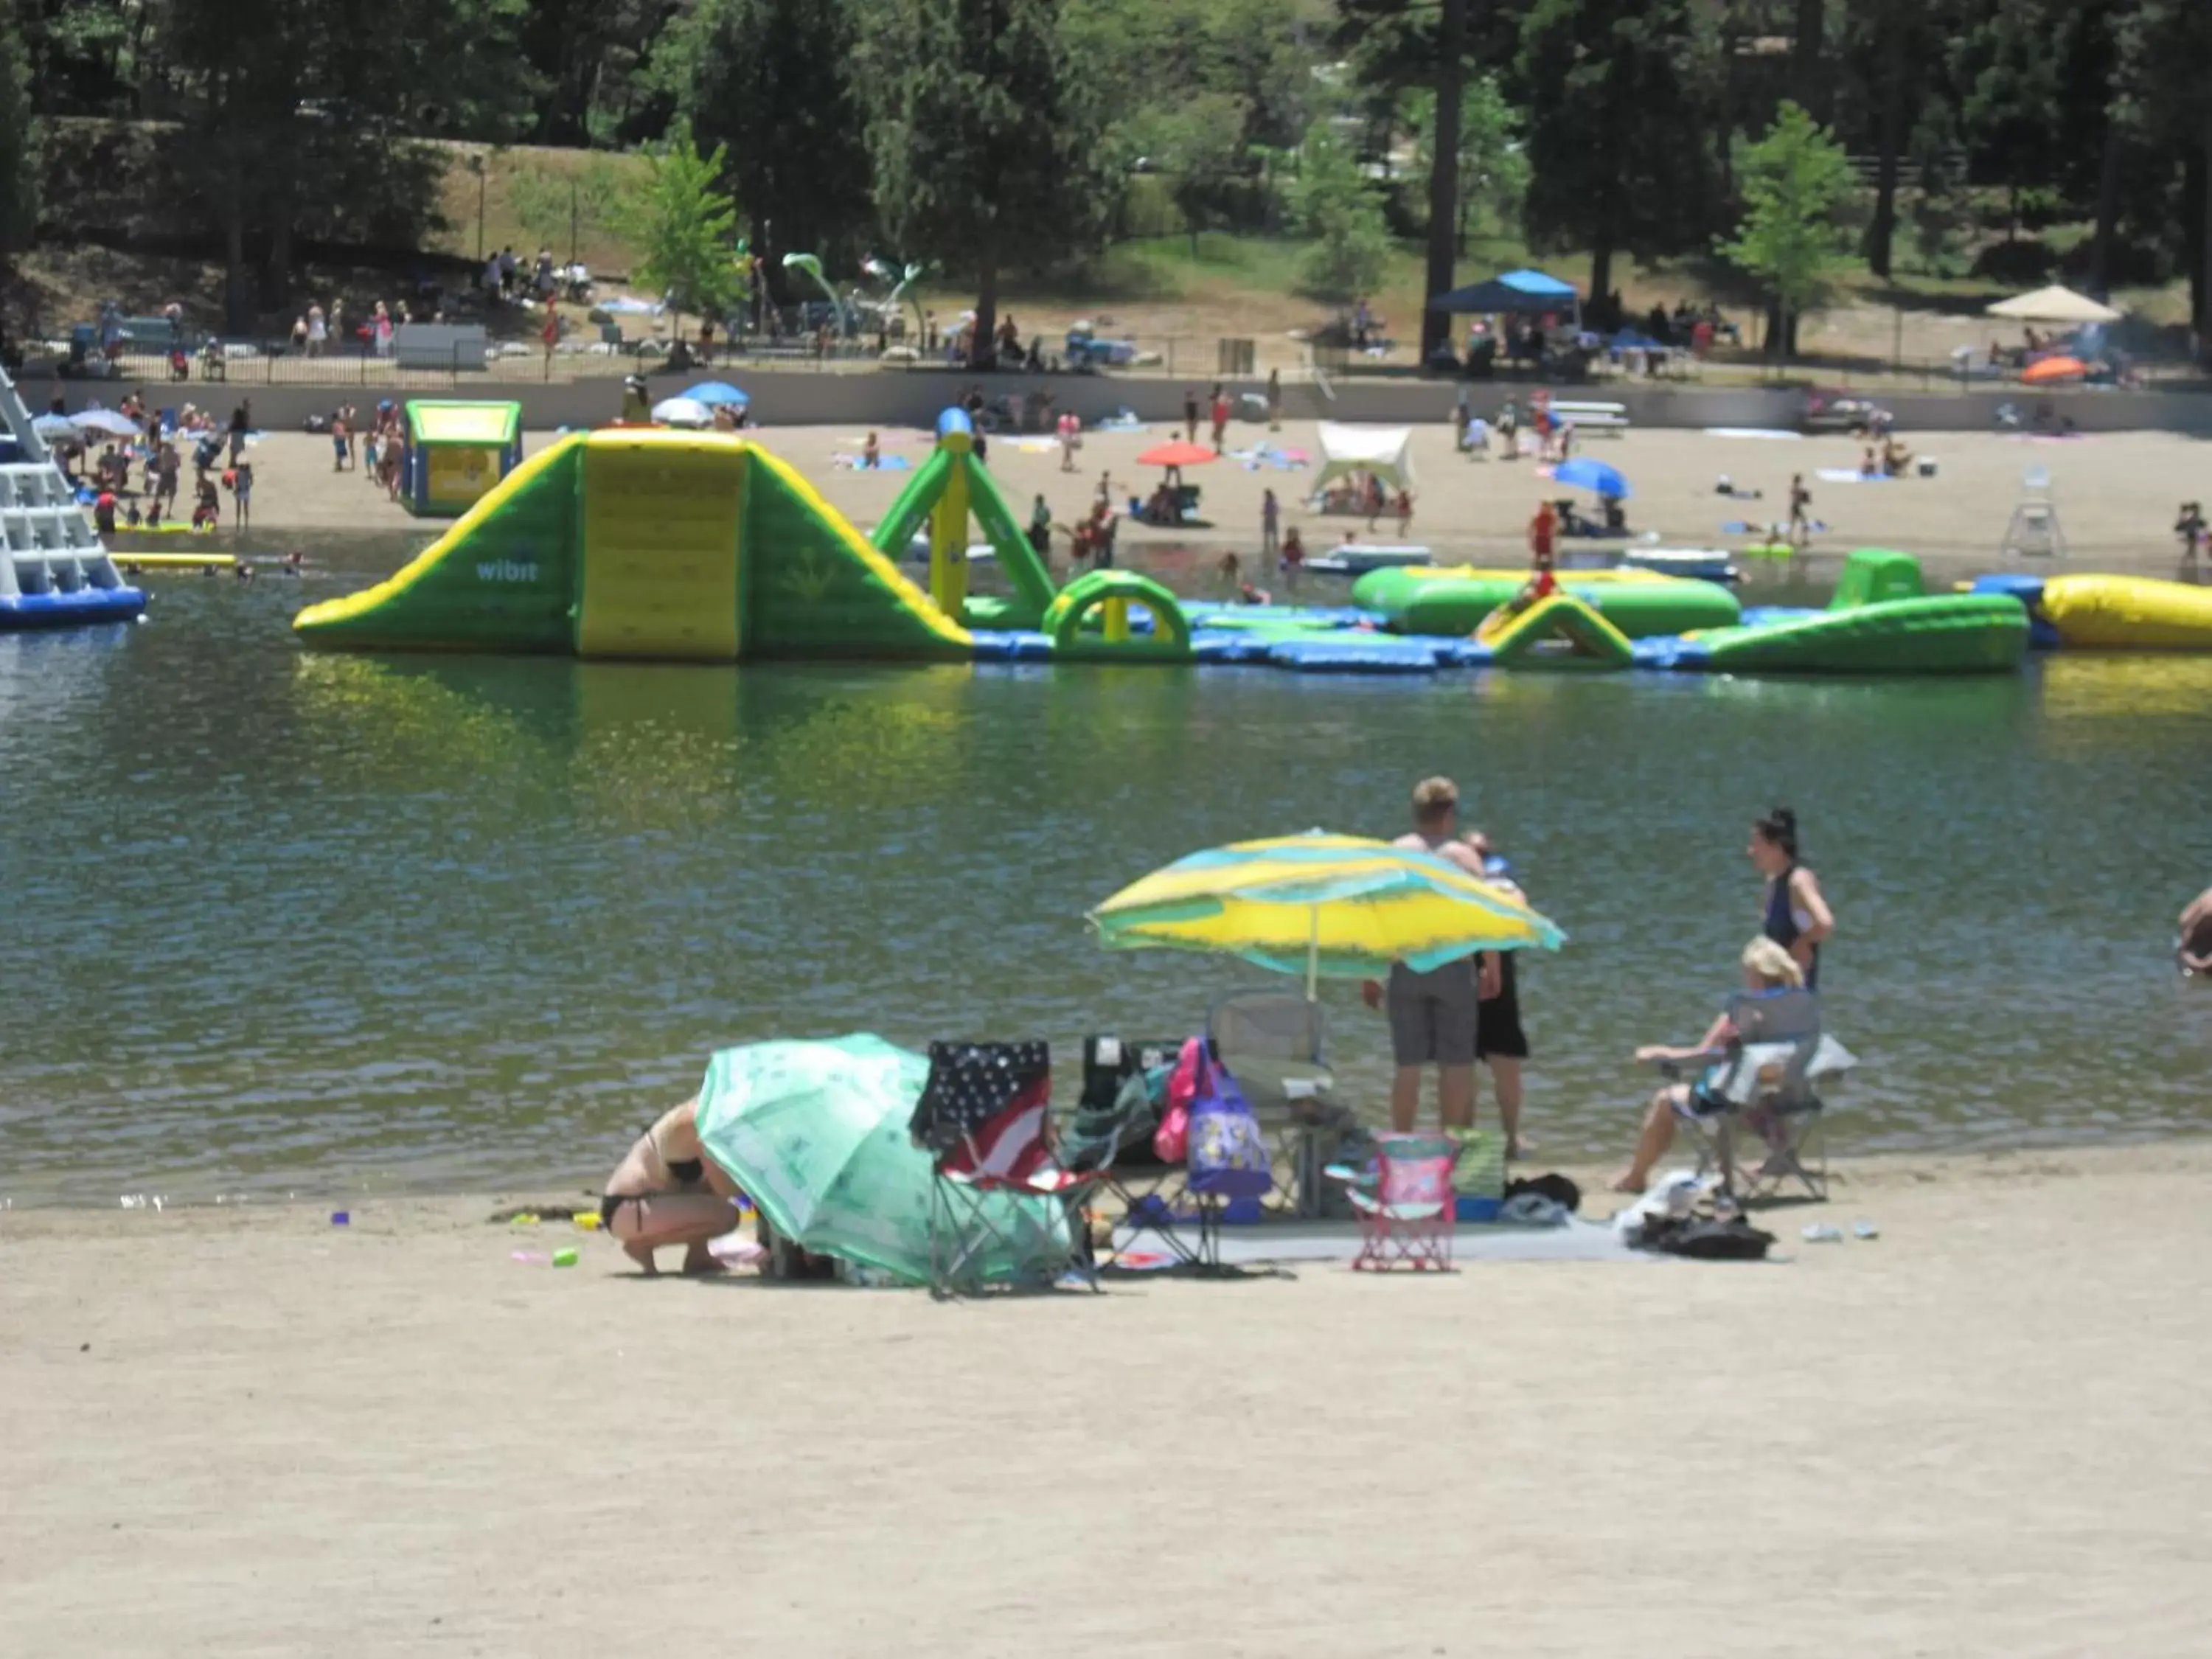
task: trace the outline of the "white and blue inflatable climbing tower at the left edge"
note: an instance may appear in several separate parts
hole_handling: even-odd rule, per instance
[[[0,633],[135,622],[146,595],[117,575],[7,374],[0,425]]]

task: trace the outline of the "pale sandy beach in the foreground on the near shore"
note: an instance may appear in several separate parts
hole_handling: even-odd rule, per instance
[[[1624,1126],[1626,1133],[1626,1126]],[[0,1214],[20,1652],[2199,1655],[2212,1144],[1785,1265],[931,1305],[476,1201]],[[1586,1206],[1604,1214],[1610,1203]],[[1878,1241],[1801,1243],[1807,1219]]]

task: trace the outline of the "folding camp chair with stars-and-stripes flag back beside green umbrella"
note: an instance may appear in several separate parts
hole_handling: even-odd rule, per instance
[[[1097,1274],[1082,1245],[1079,1201],[1095,1170],[1060,1164],[1051,1141],[1051,1046],[1042,1042],[931,1042],[929,1077],[907,1133],[929,1152],[929,1294],[987,1283],[1055,1285]],[[1066,1206],[1062,1228],[1018,1228],[989,1199],[1013,1194]]]

